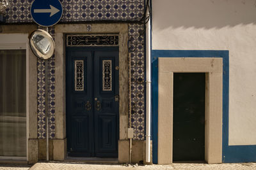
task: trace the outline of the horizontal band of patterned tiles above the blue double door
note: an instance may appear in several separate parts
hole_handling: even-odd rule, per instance
[[[42,0],[36,0],[42,1]],[[144,0],[60,0],[62,22],[93,20],[138,20],[143,15]],[[6,22],[33,22],[33,0],[10,0]]]

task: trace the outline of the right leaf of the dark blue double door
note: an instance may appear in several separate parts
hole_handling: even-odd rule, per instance
[[[117,157],[118,146],[118,115],[119,102],[115,101],[118,96],[118,51],[95,52],[95,152],[96,156],[106,154]],[[100,105],[100,106],[99,106]],[[106,128],[106,129],[105,129]],[[109,142],[107,142],[109,141]]]

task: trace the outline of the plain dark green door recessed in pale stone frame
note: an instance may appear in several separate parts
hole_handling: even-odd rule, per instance
[[[205,73],[174,73],[173,161],[204,160]]]

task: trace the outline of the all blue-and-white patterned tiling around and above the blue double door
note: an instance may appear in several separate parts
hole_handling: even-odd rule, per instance
[[[40,0],[42,1],[42,0]],[[83,22],[97,20],[140,20],[144,11],[144,0],[60,0],[63,5],[61,22]],[[33,22],[30,15],[32,0],[10,0],[7,23]],[[144,37],[140,36],[143,24],[129,24],[129,56],[131,56],[131,123],[134,138],[145,139],[145,66]],[[54,27],[49,27],[54,37]],[[49,60],[49,135],[55,137],[55,59]],[[37,60],[38,91],[38,139],[45,139],[45,61]]]

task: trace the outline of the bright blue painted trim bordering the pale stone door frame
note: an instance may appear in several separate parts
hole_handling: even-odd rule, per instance
[[[228,50],[152,50],[153,163],[157,164],[158,57],[223,58],[223,143],[222,162],[256,162],[256,145],[228,146]]]

